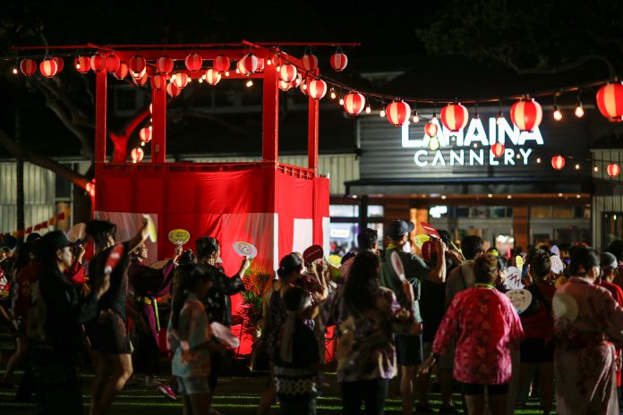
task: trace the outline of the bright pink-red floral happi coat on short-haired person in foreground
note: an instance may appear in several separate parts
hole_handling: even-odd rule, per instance
[[[510,347],[523,337],[508,297],[495,289],[473,287],[454,297],[432,351],[443,354],[457,339],[454,378],[467,384],[500,385],[512,375]]]

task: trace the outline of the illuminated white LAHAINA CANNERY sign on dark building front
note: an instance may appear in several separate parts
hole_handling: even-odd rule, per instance
[[[419,148],[414,153],[414,163],[420,167],[445,165],[527,165],[533,153],[526,144],[542,146],[541,131],[519,131],[504,118],[488,120],[489,130],[485,131],[480,118],[473,118],[462,131],[449,131],[437,118],[436,139],[424,133],[422,139],[409,138],[409,124],[402,127],[402,147]],[[500,157],[491,153],[490,147],[499,142],[506,148]],[[510,146],[513,146],[512,148]]]

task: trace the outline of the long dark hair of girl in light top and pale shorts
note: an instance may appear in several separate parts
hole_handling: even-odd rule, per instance
[[[205,281],[214,281],[215,268],[204,264],[184,264],[175,269],[175,283],[171,295],[171,326],[177,330],[180,312],[186,302],[186,294],[197,289]]]

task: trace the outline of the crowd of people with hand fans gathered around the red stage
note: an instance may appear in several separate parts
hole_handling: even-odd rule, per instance
[[[23,365],[17,400],[34,395],[41,414],[81,414],[78,360],[90,360],[91,414],[109,412],[132,375],[142,382],[139,374],[146,387],[179,395],[184,414],[219,413],[212,397],[227,346],[211,327],[231,326],[230,296],[244,290],[250,260],[226,275],[218,241],[204,236],[194,251],[178,248],[164,267],[148,267],[148,229],[146,218],[118,242],[115,224],[91,221],[88,261],[83,243],[60,231],[2,250],[0,318],[16,347],[0,386]],[[548,246],[502,257],[475,235],[459,249],[445,231],[416,255],[405,249],[413,230],[410,222],[389,223],[381,251],[377,232],[364,229],[337,274],[298,252],[281,258],[261,302],[256,352],[268,356],[270,378],[259,414],[275,402],[283,414],[316,413],[331,363],[347,415],[362,407],[384,413],[394,378],[403,414],[432,413],[431,373],[440,413],[459,411],[457,387],[469,414],[513,413],[531,392],[543,414],[554,410],[554,397],[559,414],[619,413],[623,241],[601,255],[560,246],[559,270]],[[522,308],[505,295],[511,266],[522,270],[529,300]],[[335,362],[325,361],[330,326]],[[165,330],[171,363],[163,370]],[[171,376],[158,379],[163,371]]]

